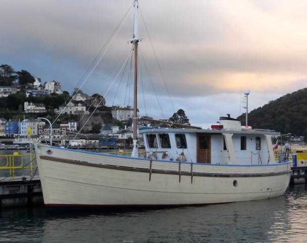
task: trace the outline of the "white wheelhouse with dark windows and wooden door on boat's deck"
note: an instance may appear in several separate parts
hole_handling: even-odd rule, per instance
[[[274,131],[241,127],[240,121],[220,117],[213,129],[156,128],[141,130],[146,157],[202,164],[274,164]]]

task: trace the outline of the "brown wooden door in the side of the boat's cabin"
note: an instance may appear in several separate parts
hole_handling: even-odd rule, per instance
[[[211,135],[197,134],[197,163],[211,164]]]

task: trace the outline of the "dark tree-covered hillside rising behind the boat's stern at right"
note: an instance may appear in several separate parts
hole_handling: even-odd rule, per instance
[[[238,117],[245,124],[245,114]],[[248,125],[307,138],[307,88],[284,95],[248,113]]]

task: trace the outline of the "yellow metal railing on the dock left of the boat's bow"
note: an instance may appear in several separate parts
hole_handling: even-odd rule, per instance
[[[9,171],[10,180],[15,178],[15,173],[24,169],[30,170],[30,176],[33,175],[33,169],[37,168],[35,154],[19,154],[14,152],[13,155],[0,155],[0,172]],[[2,174],[2,173],[1,173]],[[0,176],[6,177],[6,176]]]

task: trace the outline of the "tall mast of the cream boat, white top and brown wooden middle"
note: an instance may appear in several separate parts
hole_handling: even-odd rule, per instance
[[[134,18],[134,30],[133,30],[133,39],[130,40],[130,43],[134,45],[134,115],[133,115],[133,150],[131,157],[138,157],[138,145],[137,145],[137,136],[138,136],[138,43],[141,38],[138,37],[138,0],[135,0],[135,18]]]

